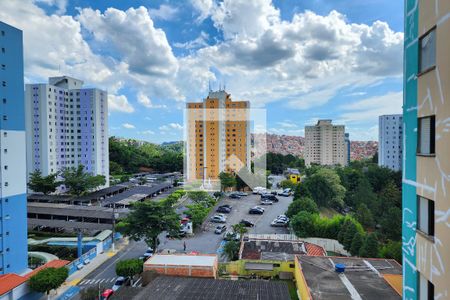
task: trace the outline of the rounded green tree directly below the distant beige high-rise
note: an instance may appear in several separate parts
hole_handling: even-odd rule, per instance
[[[345,188],[336,171],[321,168],[308,177],[304,183],[311,197],[319,207],[342,207]]]

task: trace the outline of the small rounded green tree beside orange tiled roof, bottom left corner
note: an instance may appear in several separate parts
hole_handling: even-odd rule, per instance
[[[49,295],[51,290],[59,288],[69,276],[69,270],[62,268],[45,268],[28,281],[31,290]]]

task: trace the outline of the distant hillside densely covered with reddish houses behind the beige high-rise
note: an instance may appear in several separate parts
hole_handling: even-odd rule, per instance
[[[255,136],[261,137],[261,134],[252,134],[252,145],[254,145]],[[266,152],[280,153],[283,155],[292,154],[303,157],[305,150],[305,138],[302,136],[266,134],[266,144]],[[370,158],[374,156],[377,151],[377,141],[350,142],[350,158],[352,160]],[[260,145],[257,147],[254,154],[258,157],[264,152],[263,145]]]

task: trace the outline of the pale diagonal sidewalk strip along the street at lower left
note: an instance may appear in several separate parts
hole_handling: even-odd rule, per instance
[[[125,248],[128,243],[129,240],[127,238],[123,238],[121,241],[116,242],[115,251],[109,249],[108,251],[97,255],[88,265],[84,266],[83,269],[78,270],[70,275],[67,278],[66,282],[58,289],[57,294],[52,295],[52,299],[68,300],[74,297],[80,291],[80,288],[77,287],[77,284],[91,272],[97,269],[101,264],[114,257],[120,250]]]

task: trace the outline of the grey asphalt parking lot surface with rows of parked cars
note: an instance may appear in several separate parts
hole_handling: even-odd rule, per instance
[[[270,223],[280,214],[284,214],[292,202],[292,197],[282,197],[277,196],[280,200],[273,205],[260,205],[260,195],[249,194],[248,196],[242,197],[240,199],[230,199],[229,197],[224,197],[216,205],[231,205],[232,211],[227,216],[226,226],[227,230],[231,229],[231,226],[239,223],[242,219],[251,221],[255,224],[254,227],[248,228],[249,233],[288,233],[287,228],[283,227],[272,227]],[[262,215],[250,215],[248,213],[249,209],[253,206],[258,205],[265,208],[265,212]],[[179,239],[167,239],[165,236],[160,236],[160,246],[159,249],[171,249],[177,252],[183,252],[183,244],[186,243],[186,252],[198,251],[200,253],[222,253],[223,234],[215,234],[214,229],[218,223],[212,223],[209,219],[216,213],[216,207],[211,211],[211,214],[205,220],[202,230],[196,233],[192,237],[187,237],[182,240]],[[223,260],[224,258],[221,258]]]

